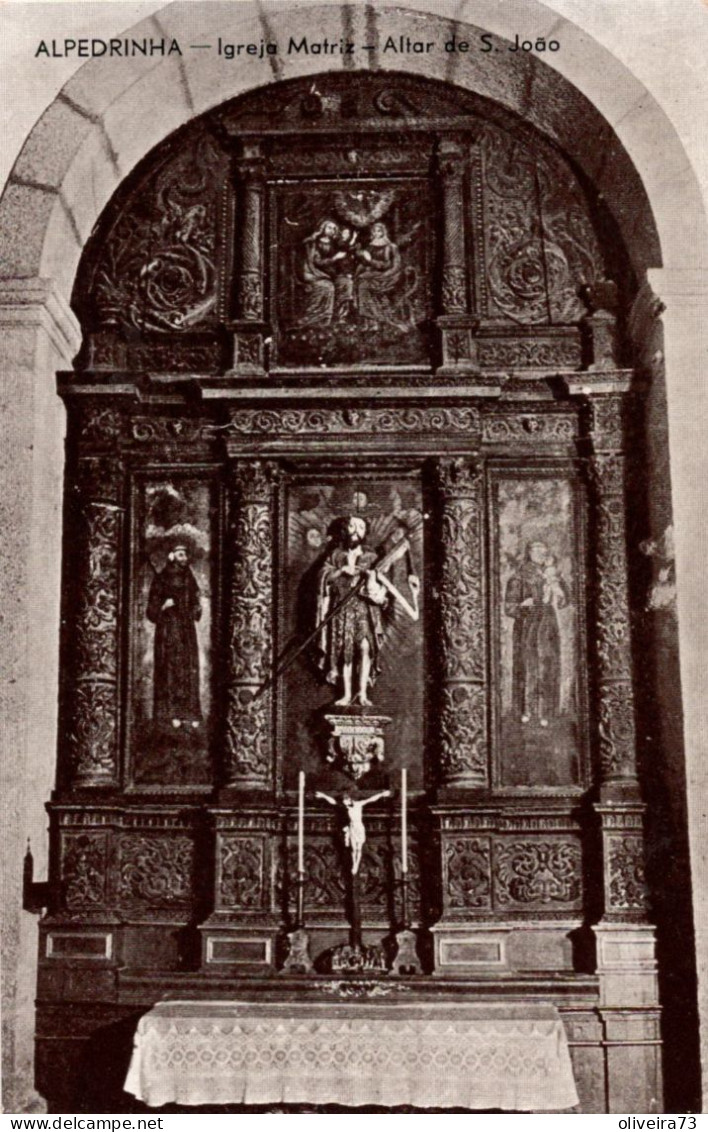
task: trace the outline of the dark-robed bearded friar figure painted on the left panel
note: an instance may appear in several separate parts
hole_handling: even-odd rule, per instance
[[[147,618],[155,626],[153,721],[178,731],[202,722],[199,650],[196,621],[202,617],[197,580],[189,566],[189,548],[179,543],[155,574],[147,599]]]

